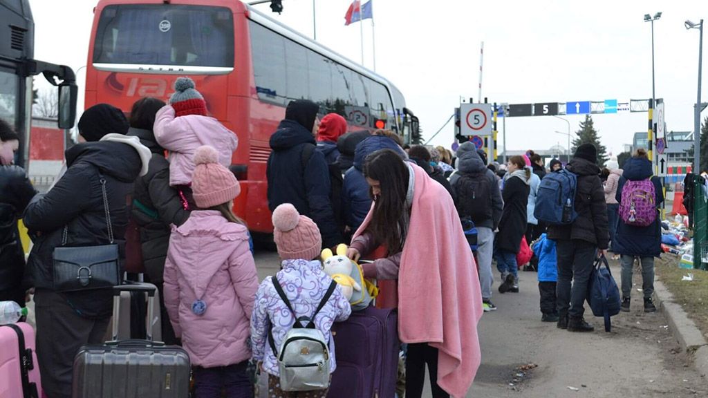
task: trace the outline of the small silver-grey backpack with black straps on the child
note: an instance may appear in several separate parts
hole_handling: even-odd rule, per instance
[[[285,334],[285,339],[280,344],[280,351],[275,349],[273,331],[268,329],[270,349],[278,358],[280,389],[283,391],[324,390],[329,387],[329,348],[324,334],[314,326],[314,317],[326,305],[337,283],[332,280],[311,317],[297,317],[290,305],[290,300],[287,300],[285,292],[282,291],[278,278],[274,275],[271,280],[275,291],[295,317],[295,324]]]

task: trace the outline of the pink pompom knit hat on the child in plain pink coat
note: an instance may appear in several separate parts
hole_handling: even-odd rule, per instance
[[[194,154],[192,191],[198,207],[206,209],[227,203],[241,193],[241,186],[234,174],[219,164],[219,152],[203,145]]]

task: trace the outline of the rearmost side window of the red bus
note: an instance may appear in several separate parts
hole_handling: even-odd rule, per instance
[[[258,98],[285,106],[285,38],[257,23],[251,23],[251,55]]]

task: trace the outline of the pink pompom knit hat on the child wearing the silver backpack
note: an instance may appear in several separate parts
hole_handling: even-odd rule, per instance
[[[322,249],[319,228],[309,217],[300,215],[295,206],[283,203],[273,211],[273,239],[282,260],[317,258]]]

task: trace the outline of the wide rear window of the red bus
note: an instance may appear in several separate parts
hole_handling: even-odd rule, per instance
[[[93,63],[232,68],[232,11],[215,6],[106,6]]]

